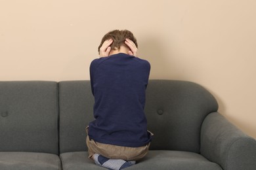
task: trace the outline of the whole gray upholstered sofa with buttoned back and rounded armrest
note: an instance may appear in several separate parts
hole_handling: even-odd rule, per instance
[[[127,169],[256,169],[256,141],[193,82],[150,80],[145,112],[155,135]],[[0,169],[104,169],[87,158],[88,80],[0,82]]]

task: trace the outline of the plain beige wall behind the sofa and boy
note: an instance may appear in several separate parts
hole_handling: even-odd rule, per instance
[[[256,1],[0,0],[0,80],[85,80],[102,36],[129,29],[150,78],[202,84],[256,138]]]

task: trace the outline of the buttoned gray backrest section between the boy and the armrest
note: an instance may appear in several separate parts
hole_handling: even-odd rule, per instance
[[[213,95],[198,84],[150,80],[145,107],[148,129],[154,133],[150,149],[199,153],[202,122],[217,109]]]

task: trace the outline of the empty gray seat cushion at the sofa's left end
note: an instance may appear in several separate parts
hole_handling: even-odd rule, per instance
[[[36,152],[0,152],[0,169],[61,169],[61,162],[60,158],[55,154]]]

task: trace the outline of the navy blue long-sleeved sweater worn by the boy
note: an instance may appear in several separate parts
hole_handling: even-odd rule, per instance
[[[151,141],[144,114],[150,63],[119,53],[91,62],[95,120],[89,137],[98,143],[139,147]]]

